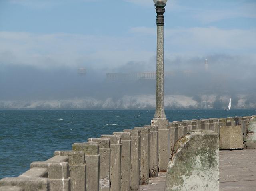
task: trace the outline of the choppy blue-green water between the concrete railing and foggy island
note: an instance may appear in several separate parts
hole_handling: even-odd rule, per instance
[[[255,115],[255,110],[166,110],[169,121]],[[74,142],[150,124],[154,110],[0,110],[0,179]]]

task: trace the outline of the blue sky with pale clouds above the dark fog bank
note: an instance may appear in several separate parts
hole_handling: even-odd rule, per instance
[[[152,0],[1,0],[0,65],[155,70]],[[168,0],[166,67],[213,55],[256,61],[255,0]]]

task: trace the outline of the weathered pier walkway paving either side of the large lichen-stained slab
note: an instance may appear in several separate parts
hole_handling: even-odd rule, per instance
[[[166,173],[150,178],[140,191],[164,191]],[[256,190],[256,149],[220,151],[220,191]]]

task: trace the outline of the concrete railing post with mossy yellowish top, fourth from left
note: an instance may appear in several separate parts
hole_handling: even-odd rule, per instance
[[[86,163],[86,190],[99,191],[100,155],[97,142],[74,143],[72,150],[83,151]]]

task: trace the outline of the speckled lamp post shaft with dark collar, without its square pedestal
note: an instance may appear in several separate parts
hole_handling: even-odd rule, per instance
[[[153,0],[156,6],[156,112],[154,120],[166,120],[164,113],[164,10],[167,0]]]

